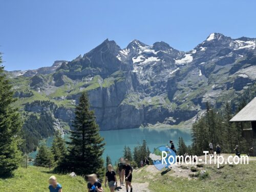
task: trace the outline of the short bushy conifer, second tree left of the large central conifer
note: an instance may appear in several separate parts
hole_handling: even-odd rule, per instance
[[[49,167],[53,163],[53,158],[51,151],[46,146],[46,143],[43,142],[35,157],[34,165],[36,166],[43,166],[43,167]]]

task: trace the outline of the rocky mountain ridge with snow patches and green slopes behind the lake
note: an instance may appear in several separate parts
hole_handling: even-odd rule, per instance
[[[33,108],[35,101],[50,100],[56,105],[52,115],[65,127],[72,125],[82,91],[89,94],[101,130],[186,122],[191,126],[206,101],[220,105],[223,98],[237,97],[255,82],[255,40],[212,33],[183,52],[163,41],[148,46],[133,40],[121,49],[106,39],[72,61],[55,61],[34,73],[9,74],[21,110],[39,113]]]

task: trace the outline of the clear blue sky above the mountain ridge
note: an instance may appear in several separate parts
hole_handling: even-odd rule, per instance
[[[256,37],[254,0],[0,0],[0,52],[6,70],[72,60],[104,39],[165,41],[188,51],[212,32]]]

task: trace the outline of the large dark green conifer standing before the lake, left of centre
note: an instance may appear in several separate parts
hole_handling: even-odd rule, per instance
[[[90,110],[89,98],[83,92],[76,106],[74,130],[71,131],[70,142],[67,142],[68,156],[58,169],[72,171],[78,175],[104,174],[103,138],[99,135],[99,127],[94,112]]]

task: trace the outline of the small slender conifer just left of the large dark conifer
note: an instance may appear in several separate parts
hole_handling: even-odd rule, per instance
[[[55,164],[61,162],[67,155],[66,143],[59,131],[54,134],[51,152]]]

